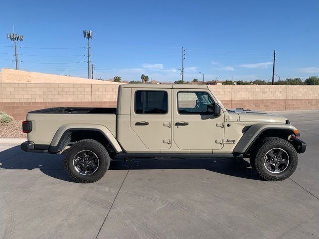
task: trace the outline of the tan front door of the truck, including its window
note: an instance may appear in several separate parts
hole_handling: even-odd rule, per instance
[[[207,112],[214,105],[208,90],[173,89],[173,139],[180,149],[221,149],[225,116],[215,117]]]

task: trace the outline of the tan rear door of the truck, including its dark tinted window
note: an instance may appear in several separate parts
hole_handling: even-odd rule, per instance
[[[149,149],[171,145],[171,89],[132,88],[131,127]],[[134,142],[132,142],[134,143]]]

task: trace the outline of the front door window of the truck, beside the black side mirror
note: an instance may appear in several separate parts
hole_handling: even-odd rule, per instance
[[[209,114],[207,106],[214,102],[206,92],[178,92],[177,110],[179,114]]]

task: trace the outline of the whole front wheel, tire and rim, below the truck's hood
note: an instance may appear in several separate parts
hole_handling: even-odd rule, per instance
[[[253,169],[267,181],[289,178],[298,165],[298,154],[294,146],[285,139],[268,137],[257,150]]]

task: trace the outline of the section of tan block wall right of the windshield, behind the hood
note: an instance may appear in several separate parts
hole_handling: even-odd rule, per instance
[[[226,108],[260,111],[319,109],[319,86],[211,85]]]

